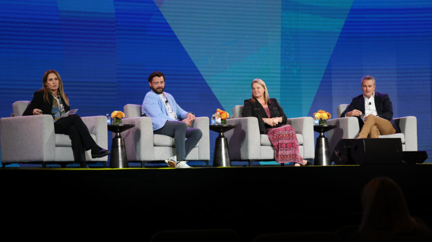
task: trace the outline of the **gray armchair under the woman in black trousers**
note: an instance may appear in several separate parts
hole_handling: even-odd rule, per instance
[[[54,133],[51,115],[21,116],[29,101],[17,101],[14,113],[0,119],[1,160],[4,166],[11,163],[60,164],[65,167],[74,163],[72,144],[68,135]],[[106,117],[81,117],[96,143],[107,148]],[[88,163],[102,162],[108,157],[91,158],[90,150],[85,152]]]

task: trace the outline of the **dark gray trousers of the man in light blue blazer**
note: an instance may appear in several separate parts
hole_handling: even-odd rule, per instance
[[[174,137],[177,161],[186,159],[187,154],[195,147],[202,136],[200,129],[187,128],[186,123],[183,121],[167,121],[162,128],[153,131],[153,133]],[[187,138],[186,141],[185,138]]]

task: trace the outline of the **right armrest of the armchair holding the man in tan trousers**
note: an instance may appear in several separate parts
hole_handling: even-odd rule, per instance
[[[395,118],[394,121],[405,136],[405,151],[417,151],[417,118],[407,116]]]

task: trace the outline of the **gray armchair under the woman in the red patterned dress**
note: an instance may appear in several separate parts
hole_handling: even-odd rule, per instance
[[[233,161],[274,160],[274,147],[268,136],[260,134],[258,120],[255,117],[242,117],[243,105],[233,108],[233,116],[227,124],[237,127],[225,132],[230,147],[230,157]],[[303,159],[313,159],[315,156],[313,119],[312,117],[289,118],[287,124],[294,128],[297,135],[300,155]]]

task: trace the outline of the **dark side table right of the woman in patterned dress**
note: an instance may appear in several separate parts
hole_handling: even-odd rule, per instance
[[[316,138],[315,146],[315,158],[313,159],[313,165],[330,165],[329,142],[327,137],[324,135],[329,130],[336,128],[336,125],[313,125],[313,130],[319,133]]]

